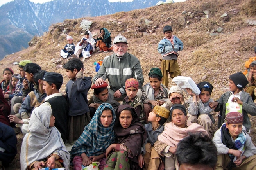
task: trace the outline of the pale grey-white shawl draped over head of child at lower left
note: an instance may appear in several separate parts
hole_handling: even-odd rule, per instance
[[[69,169],[70,154],[57,128],[50,127],[51,115],[50,106],[41,105],[33,110],[28,133],[21,146],[21,170],[26,170],[31,163],[45,159],[53,152],[62,156],[64,167]]]

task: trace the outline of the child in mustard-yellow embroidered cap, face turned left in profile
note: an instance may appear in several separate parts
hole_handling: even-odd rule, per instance
[[[164,169],[165,164],[161,161],[161,158],[158,152],[153,148],[153,145],[156,142],[158,135],[163,132],[163,124],[166,122],[169,115],[170,111],[161,106],[155,106],[152,112],[149,113],[149,123],[144,125],[148,138],[145,141],[146,145],[143,144],[143,147],[141,148],[142,153],[138,156],[140,168],[145,165],[144,169],[146,170],[158,170],[161,169],[160,166],[163,166],[162,169]]]

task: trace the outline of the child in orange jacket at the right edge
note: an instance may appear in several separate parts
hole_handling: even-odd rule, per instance
[[[244,91],[250,94],[252,100],[255,103],[256,97],[254,95],[254,89],[256,88],[256,61],[252,61],[250,64],[250,71],[246,74],[246,77],[249,84],[247,84],[247,87],[244,89]]]

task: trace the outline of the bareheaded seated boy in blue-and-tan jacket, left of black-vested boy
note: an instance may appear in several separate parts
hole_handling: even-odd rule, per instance
[[[23,135],[27,133],[32,111],[36,107],[40,106],[46,97],[46,93],[43,90],[43,76],[45,72],[45,70],[39,70],[39,72],[33,75],[34,82],[36,82],[38,89],[31,91],[27,95],[24,102],[21,104],[21,108],[18,114],[8,116],[10,122],[18,124],[16,126],[21,128]]]

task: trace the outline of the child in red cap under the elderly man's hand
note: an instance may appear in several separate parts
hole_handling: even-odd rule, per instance
[[[100,86],[96,86],[96,84],[91,86],[93,96],[91,96],[90,100],[88,101],[91,118],[94,116],[96,109],[98,109],[102,103],[111,104],[115,110],[118,106],[120,106],[120,103],[114,100],[114,96],[109,93],[107,86],[108,84],[106,82]]]

